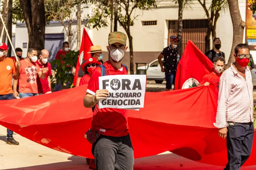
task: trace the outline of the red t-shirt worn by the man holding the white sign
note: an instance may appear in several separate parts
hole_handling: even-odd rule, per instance
[[[107,75],[127,74],[125,67],[119,70],[113,67],[110,61],[105,62],[103,65],[106,67]],[[87,92],[89,94],[95,95],[96,91],[99,90],[99,77],[101,75],[102,69],[97,67],[88,84]],[[99,109],[98,104],[96,104],[91,129],[106,136],[120,137],[128,135],[127,110],[115,108]]]

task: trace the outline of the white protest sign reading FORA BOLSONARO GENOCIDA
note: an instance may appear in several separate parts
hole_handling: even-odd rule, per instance
[[[99,100],[99,108],[143,108],[146,82],[146,75],[99,77],[99,89],[107,89],[109,92],[106,99]]]

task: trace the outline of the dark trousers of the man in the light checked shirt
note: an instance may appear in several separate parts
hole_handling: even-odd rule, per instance
[[[240,170],[249,158],[253,147],[253,123],[228,122],[227,156],[228,163],[224,170]]]

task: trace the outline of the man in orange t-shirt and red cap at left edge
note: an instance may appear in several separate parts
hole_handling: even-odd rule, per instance
[[[21,63],[6,57],[8,47],[5,43],[0,43],[0,100],[10,100],[14,98],[12,90],[12,77],[18,79]],[[17,65],[17,67],[16,67]],[[13,139],[13,131],[7,129],[7,144],[18,145],[19,142]]]

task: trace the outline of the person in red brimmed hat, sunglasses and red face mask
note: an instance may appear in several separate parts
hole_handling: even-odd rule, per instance
[[[95,58],[89,58],[87,62],[84,62],[82,70],[85,72],[85,75],[81,78],[79,86],[89,83],[90,77],[99,65],[101,65],[101,62],[98,62]]]

